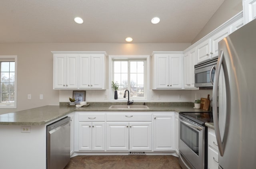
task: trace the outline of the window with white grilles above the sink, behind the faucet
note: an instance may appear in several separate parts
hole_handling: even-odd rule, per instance
[[[124,98],[124,91],[129,90],[131,99],[146,98],[146,60],[113,60],[112,81],[119,84],[118,99]]]

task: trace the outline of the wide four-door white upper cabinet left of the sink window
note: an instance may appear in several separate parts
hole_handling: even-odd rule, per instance
[[[105,52],[53,51],[54,89],[105,89]]]

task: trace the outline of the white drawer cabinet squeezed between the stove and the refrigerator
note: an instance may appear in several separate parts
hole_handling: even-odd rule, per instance
[[[215,132],[208,128],[208,169],[218,169],[218,145]]]

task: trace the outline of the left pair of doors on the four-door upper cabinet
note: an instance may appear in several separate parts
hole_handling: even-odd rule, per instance
[[[53,88],[78,88],[78,55],[54,54]]]

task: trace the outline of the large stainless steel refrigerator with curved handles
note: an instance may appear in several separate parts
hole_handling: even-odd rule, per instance
[[[256,20],[218,44],[213,116],[220,169],[256,168]]]

